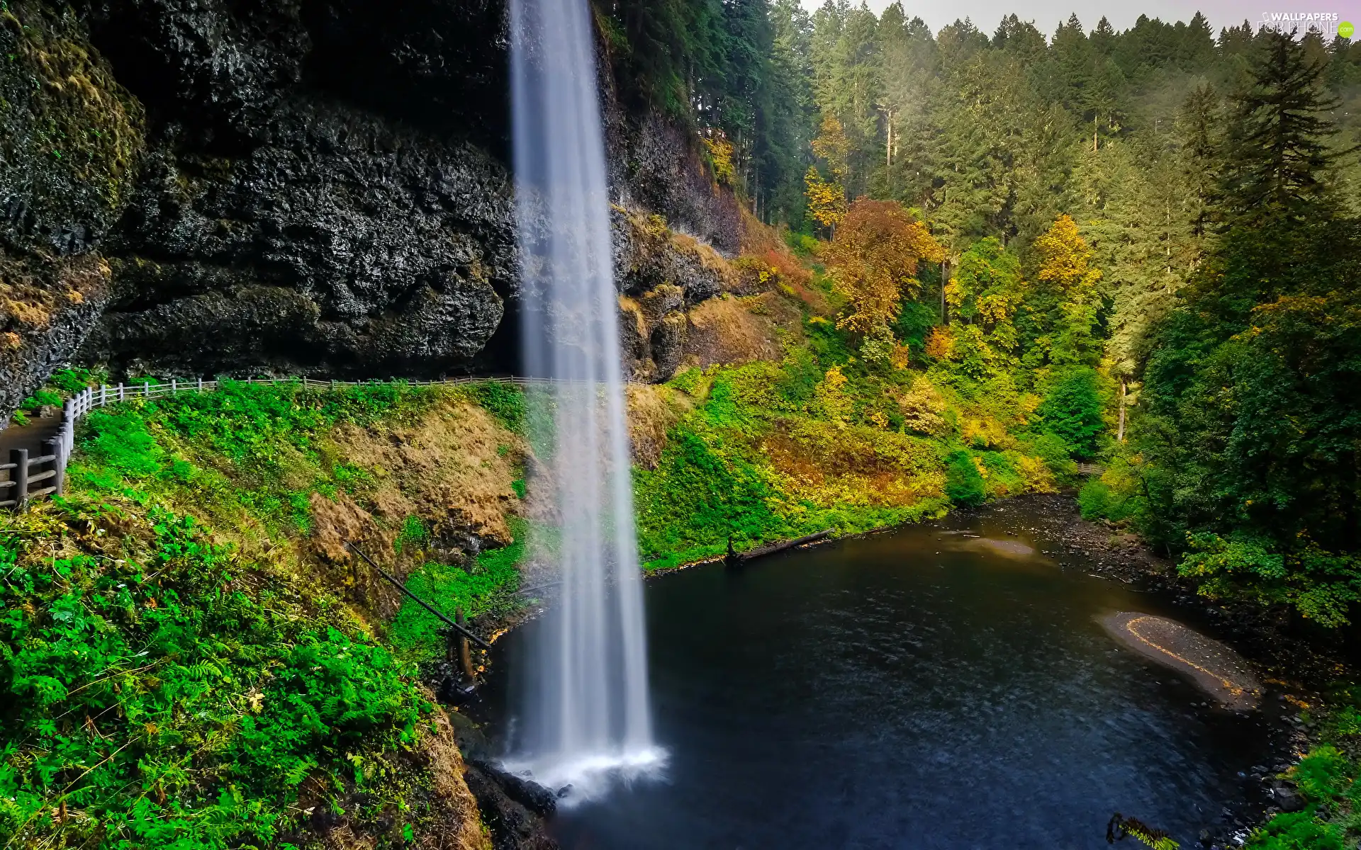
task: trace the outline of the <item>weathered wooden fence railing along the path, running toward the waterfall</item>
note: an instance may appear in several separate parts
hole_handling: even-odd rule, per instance
[[[347,386],[366,386],[373,384],[395,384],[388,381],[317,381],[316,378],[246,378],[234,381],[235,384],[294,384],[304,389],[333,390]],[[495,378],[441,378],[438,381],[403,381],[411,386],[446,386],[457,384],[540,384],[536,378],[495,377]],[[80,418],[95,408],[132,398],[165,398],[177,393],[211,393],[218,389],[219,381],[180,381],[171,378],[169,382],[143,381],[139,384],[118,384],[117,386],[101,385],[90,386],[67,400],[61,408],[61,424],[57,435],[42,443],[42,454],[29,457],[27,449],[14,449],[10,452],[10,462],[0,464],[0,472],[8,472],[10,480],[0,481],[0,507],[22,510],[24,505],[39,496],[61,495],[65,481],[67,462],[76,446],[76,423]],[[42,466],[50,466],[42,469]],[[34,484],[50,481],[46,487],[34,490]]]

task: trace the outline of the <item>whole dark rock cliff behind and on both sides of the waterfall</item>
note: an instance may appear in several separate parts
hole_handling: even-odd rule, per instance
[[[72,356],[114,375],[516,369],[504,0],[0,15],[0,413]],[[661,379],[685,309],[731,282],[740,216],[689,133],[603,78],[629,369]]]

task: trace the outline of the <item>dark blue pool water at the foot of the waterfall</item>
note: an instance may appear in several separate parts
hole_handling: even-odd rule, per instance
[[[1169,613],[1157,597],[946,533],[1049,548],[1018,525],[957,520],[648,582],[670,764],[559,813],[562,846],[1096,849],[1113,812],[1194,846],[1267,758],[1264,721],[1203,706],[1096,622]],[[498,645],[501,718],[535,627]]]

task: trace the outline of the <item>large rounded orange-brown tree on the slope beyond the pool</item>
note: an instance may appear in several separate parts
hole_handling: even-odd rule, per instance
[[[874,339],[898,314],[904,295],[920,292],[917,262],[940,262],[945,249],[902,204],[860,199],[822,256],[848,302],[837,326]]]

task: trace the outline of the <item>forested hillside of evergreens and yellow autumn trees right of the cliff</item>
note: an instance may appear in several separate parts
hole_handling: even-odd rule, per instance
[[[1206,593],[1347,622],[1361,45],[1199,14],[931,33],[848,0],[602,19],[652,46],[637,91],[689,109],[719,178],[826,272],[849,369],[902,347],[938,386],[1010,398],[1013,437],[1106,466],[1089,517],[1135,526]],[[855,199],[901,204],[932,245],[875,267]],[[1102,420],[1045,424],[1037,401],[1082,422],[1075,392]]]

